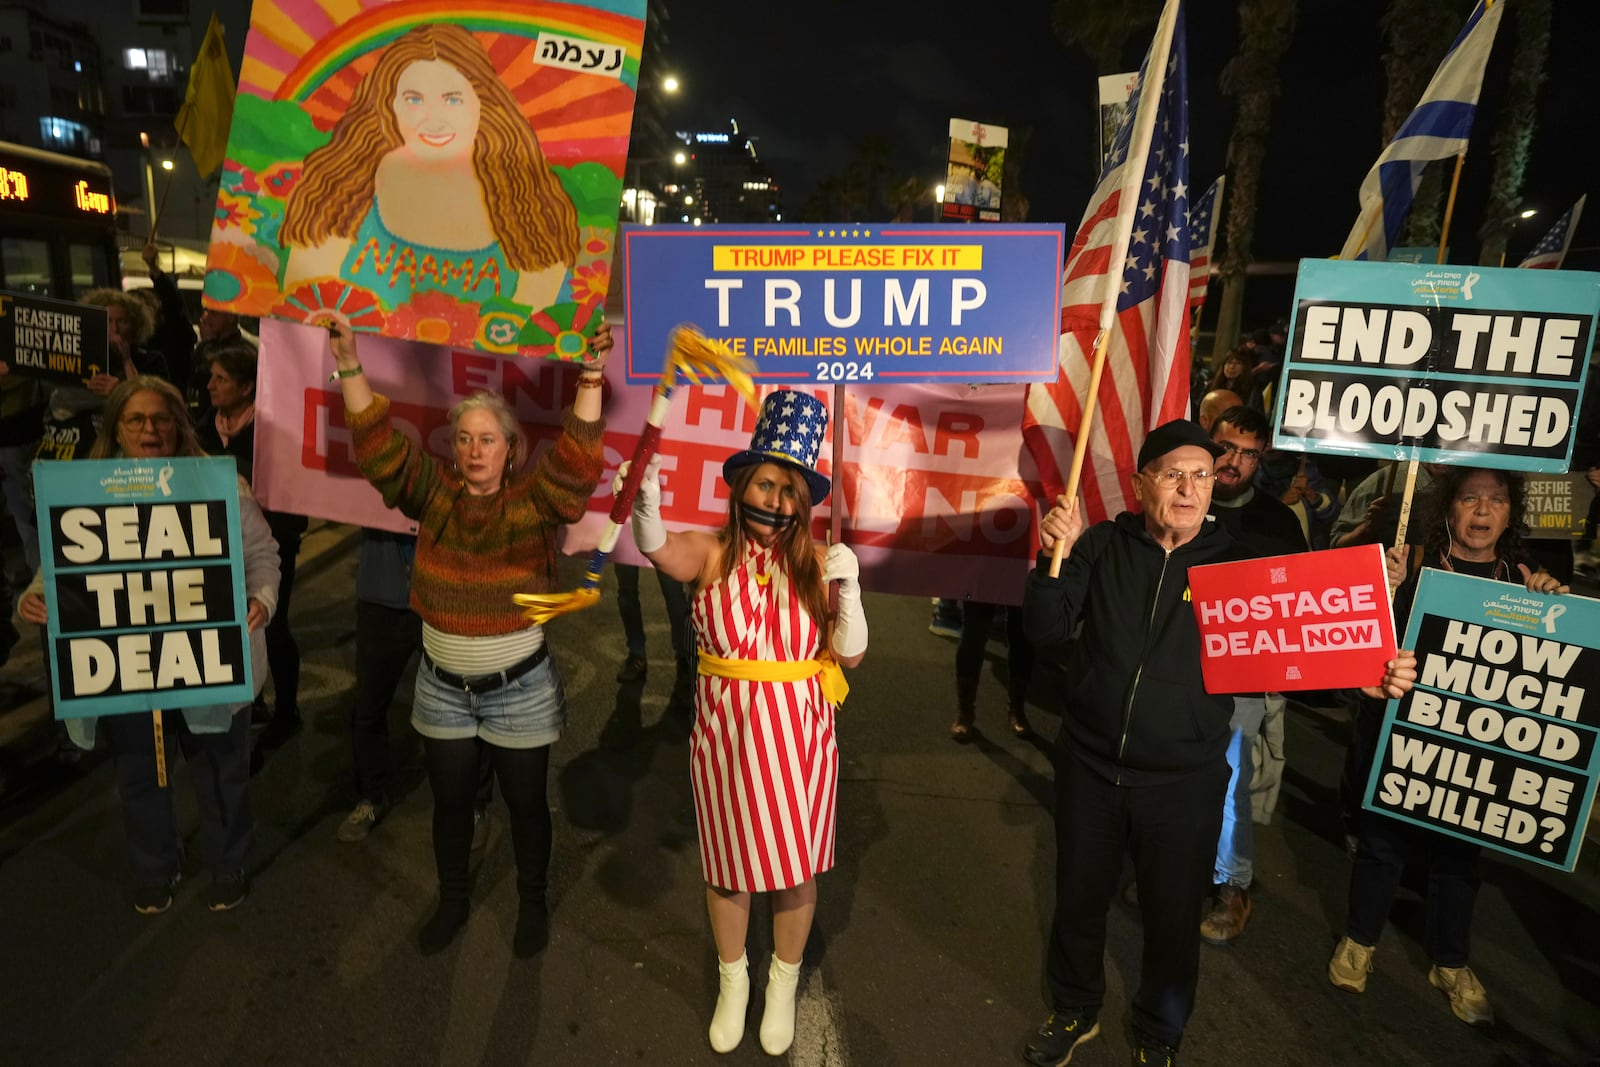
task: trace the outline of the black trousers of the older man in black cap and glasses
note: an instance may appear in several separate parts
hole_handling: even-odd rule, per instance
[[[1226,758],[1162,785],[1114,785],[1056,755],[1056,915],[1045,981],[1053,1008],[1098,1014],[1106,1000],[1106,910],[1123,854],[1144,920],[1134,1029],[1173,1048],[1195,1005],[1200,901],[1211,888],[1227,792]]]

